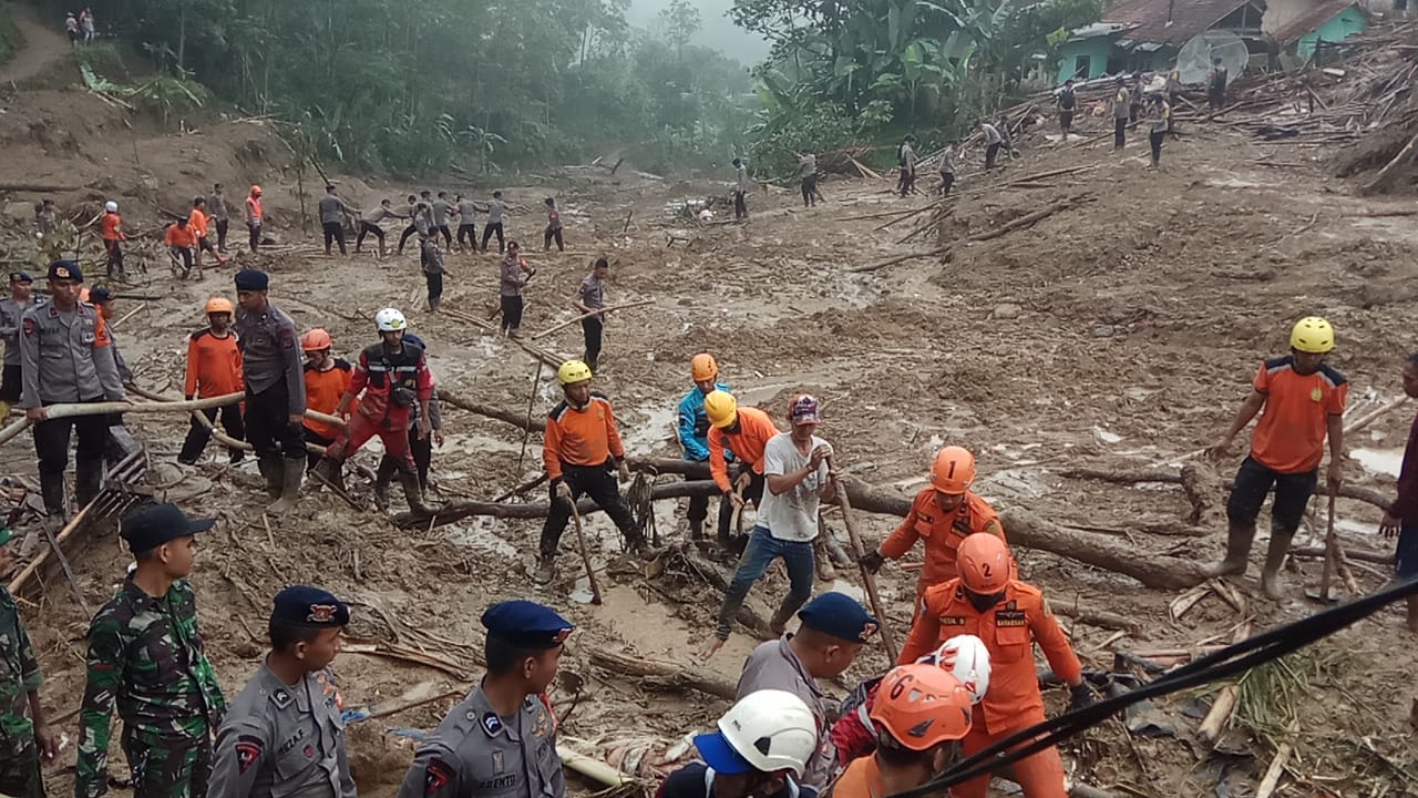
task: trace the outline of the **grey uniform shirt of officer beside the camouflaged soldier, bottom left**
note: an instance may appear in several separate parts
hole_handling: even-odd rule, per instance
[[[217,731],[208,798],[354,798],[345,720],[329,672],[295,686],[269,667],[247,682]]]

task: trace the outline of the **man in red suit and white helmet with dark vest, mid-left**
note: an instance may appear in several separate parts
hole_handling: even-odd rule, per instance
[[[359,354],[350,385],[335,408],[336,416],[349,416],[349,432],[335,439],[311,473],[343,494],[345,460],[379,436],[384,456],[374,473],[374,504],[380,510],[389,507],[389,487],[398,474],[408,508],[431,514],[432,508],[424,504],[418,490],[418,473],[408,452],[408,427],[417,405],[418,436],[428,437],[428,400],[434,393],[434,378],[428,372],[424,349],[404,341],[408,327],[404,314],[397,308],[384,308],[374,314],[374,325],[380,341]],[[356,398],[359,410],[350,413]]]

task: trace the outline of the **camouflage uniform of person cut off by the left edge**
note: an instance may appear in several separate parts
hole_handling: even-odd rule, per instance
[[[0,588],[0,794],[43,798],[40,751],[30,720],[30,693],[40,689],[40,663],[10,591]]]

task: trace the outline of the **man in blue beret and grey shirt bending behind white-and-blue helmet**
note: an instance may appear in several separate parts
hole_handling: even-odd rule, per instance
[[[813,552],[808,552],[811,559]],[[832,710],[818,679],[837,679],[852,666],[881,622],[847,594],[827,592],[798,612],[797,633],[783,635],[753,649],[739,676],[739,700],[759,690],[793,693],[813,710],[820,730],[817,751],[808,758],[803,784],[827,788],[837,770],[837,748],[827,738]],[[832,701],[835,706],[835,701]]]

